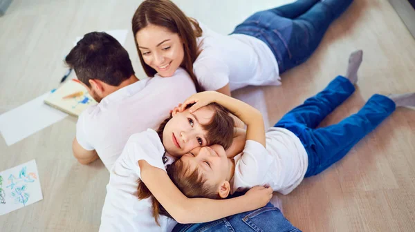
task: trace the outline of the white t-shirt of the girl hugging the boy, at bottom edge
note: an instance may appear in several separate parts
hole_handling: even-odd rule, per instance
[[[138,200],[139,160],[165,171],[165,149],[156,131],[131,135],[110,171],[107,196],[102,208],[100,231],[172,231],[175,220],[160,215],[156,224],[150,198]],[[168,162],[170,163],[170,162]]]

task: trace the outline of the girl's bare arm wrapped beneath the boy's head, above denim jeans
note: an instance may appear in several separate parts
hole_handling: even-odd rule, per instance
[[[145,160],[140,160],[138,164],[142,182],[174,220],[182,224],[210,222],[258,209],[273,196],[273,190],[269,187],[257,186],[241,197],[227,200],[188,198],[177,189],[165,171],[151,166]]]

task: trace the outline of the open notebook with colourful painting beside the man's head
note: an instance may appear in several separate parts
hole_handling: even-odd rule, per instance
[[[82,94],[76,97],[63,99],[63,97],[67,95],[79,92],[82,92]],[[73,116],[78,116],[88,106],[97,104],[91,95],[89,95],[88,90],[73,79],[64,82],[62,86],[46,97],[44,101],[49,106],[53,106]]]

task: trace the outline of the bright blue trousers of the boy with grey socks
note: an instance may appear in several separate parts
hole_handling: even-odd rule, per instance
[[[358,113],[338,124],[316,128],[354,90],[348,79],[338,76],[322,92],[304,101],[275,124],[275,127],[286,128],[297,135],[306,148],[308,168],[305,177],[317,175],[338,162],[360,139],[394,112],[394,101],[382,95],[373,95]]]

